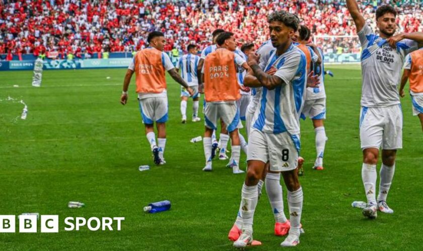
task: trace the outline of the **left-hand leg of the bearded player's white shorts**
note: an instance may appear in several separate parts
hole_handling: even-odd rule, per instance
[[[382,145],[384,116],[380,108],[362,107],[360,112],[361,149],[377,148]]]

